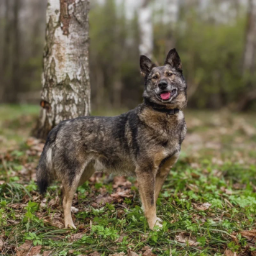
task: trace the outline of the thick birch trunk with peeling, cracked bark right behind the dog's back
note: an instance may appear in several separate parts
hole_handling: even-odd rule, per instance
[[[38,138],[65,119],[90,114],[88,12],[89,0],[48,0]]]

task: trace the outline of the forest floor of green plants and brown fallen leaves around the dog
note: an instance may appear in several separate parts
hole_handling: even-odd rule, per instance
[[[0,106],[0,255],[256,255],[255,113],[185,111],[180,160],[157,200],[160,231],[147,227],[135,178],[101,173],[73,199],[78,229],[64,229],[59,183],[37,193],[38,114]]]

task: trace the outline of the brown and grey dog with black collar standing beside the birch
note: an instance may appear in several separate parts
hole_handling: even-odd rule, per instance
[[[175,49],[160,67],[142,55],[140,68],[145,77],[142,104],[120,116],[63,121],[47,137],[37,184],[40,193],[45,193],[53,179],[62,182],[65,227],[76,228],[70,211],[72,199],[76,188],[95,171],[136,175],[150,229],[162,226],[155,202],[186,135],[181,109],[186,107],[187,86]]]

